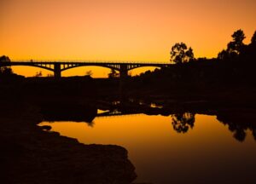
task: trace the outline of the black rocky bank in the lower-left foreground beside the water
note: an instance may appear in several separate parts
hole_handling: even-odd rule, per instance
[[[0,114],[1,183],[128,184],[136,178],[123,147],[84,145],[44,131],[34,107],[5,106]]]

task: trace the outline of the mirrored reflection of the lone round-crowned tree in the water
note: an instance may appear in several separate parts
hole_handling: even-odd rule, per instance
[[[172,127],[177,133],[186,133],[193,129],[195,123],[195,114],[190,112],[181,112],[172,115]]]

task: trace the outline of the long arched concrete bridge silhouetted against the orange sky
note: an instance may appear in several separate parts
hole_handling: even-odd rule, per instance
[[[160,62],[105,62],[105,61],[11,61],[1,62],[1,66],[35,66],[44,68],[46,70],[54,72],[55,78],[61,78],[61,72],[71,68],[79,66],[102,66],[107,67],[119,72],[120,78],[125,78],[128,75],[128,71],[143,67],[143,66],[155,66],[166,67],[172,65],[171,63]]]

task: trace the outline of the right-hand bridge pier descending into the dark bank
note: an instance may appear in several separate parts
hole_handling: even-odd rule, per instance
[[[128,77],[128,66],[126,64],[120,64],[120,71],[119,71],[119,95],[120,95],[120,102],[125,102],[125,82]]]

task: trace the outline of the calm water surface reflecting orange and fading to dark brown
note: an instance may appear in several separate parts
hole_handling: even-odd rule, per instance
[[[252,131],[237,141],[215,116],[195,115],[194,124],[174,129],[173,116],[145,114],[97,117],[93,124],[43,122],[84,144],[125,147],[137,182],[253,183],[256,141]]]

